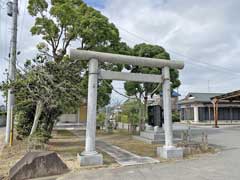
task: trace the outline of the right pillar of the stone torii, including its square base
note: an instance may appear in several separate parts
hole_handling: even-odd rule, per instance
[[[177,148],[173,144],[172,127],[172,105],[171,105],[171,86],[170,69],[165,66],[162,68],[163,75],[163,111],[164,111],[164,132],[165,145],[157,148],[157,154],[165,159],[183,158],[183,149]]]

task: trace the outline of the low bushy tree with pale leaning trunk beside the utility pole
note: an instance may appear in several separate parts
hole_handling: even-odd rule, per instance
[[[81,103],[79,65],[79,61],[69,62],[67,58],[56,64],[37,56],[25,63],[24,71],[19,71],[14,81],[2,84],[2,89],[14,90],[20,136],[32,135],[37,129],[51,133],[63,107]]]

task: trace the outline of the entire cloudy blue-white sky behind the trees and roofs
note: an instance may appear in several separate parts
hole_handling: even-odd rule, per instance
[[[151,43],[163,46],[172,59],[182,60],[182,96],[188,92],[229,92],[240,89],[240,1],[239,0],[84,0],[114,23],[122,41],[134,46]],[[34,19],[20,1],[18,63],[33,57],[40,37],[29,29]],[[25,10],[24,10],[25,9]],[[0,81],[8,63],[11,18],[0,11]],[[74,43],[71,48],[76,48]],[[113,82],[124,93],[122,82]],[[121,99],[117,94],[113,100]],[[3,98],[0,94],[0,104]]]

